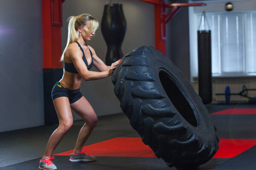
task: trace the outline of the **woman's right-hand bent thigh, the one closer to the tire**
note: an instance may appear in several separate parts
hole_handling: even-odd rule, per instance
[[[86,123],[95,123],[98,121],[93,107],[84,96],[70,106]]]

